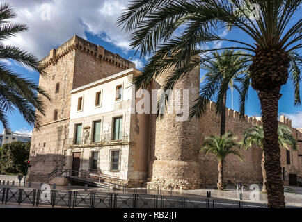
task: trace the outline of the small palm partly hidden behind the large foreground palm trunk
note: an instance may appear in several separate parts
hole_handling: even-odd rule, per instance
[[[258,146],[263,151],[263,141],[264,141],[263,127],[253,126],[245,130],[242,146],[248,149],[251,148],[253,144],[255,144],[255,146]],[[297,141],[296,139],[294,139],[292,135],[292,130],[290,130],[290,128],[288,128],[285,125],[279,125],[278,127],[278,142],[280,147],[288,149],[288,146],[291,146],[293,151],[297,150]],[[264,163],[265,163],[264,152],[262,152],[262,160],[261,160],[262,176],[263,176],[262,192],[267,192],[266,189],[267,176],[264,169]]]

